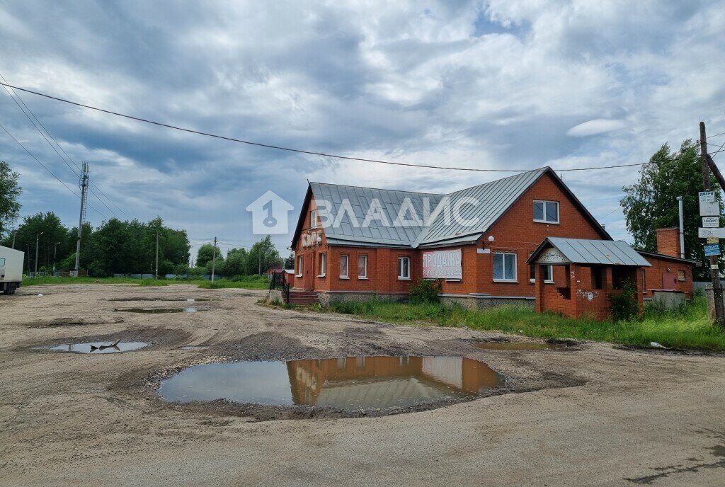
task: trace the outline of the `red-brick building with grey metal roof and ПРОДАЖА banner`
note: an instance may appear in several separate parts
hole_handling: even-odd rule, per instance
[[[549,167],[450,194],[310,183],[292,241],[293,286],[322,302],[404,299],[411,282],[439,278],[444,301],[533,306],[536,266],[526,261],[548,237],[611,241]],[[684,270],[675,286],[691,295],[693,262],[667,242],[645,256],[652,267],[640,280],[662,288],[663,269]],[[543,272],[544,286],[566,278],[564,267]]]

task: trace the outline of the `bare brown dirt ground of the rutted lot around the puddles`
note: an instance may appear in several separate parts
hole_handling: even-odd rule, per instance
[[[472,343],[503,336],[272,309],[257,304],[264,294],[79,285],[0,296],[0,485],[725,485],[722,355],[482,350]],[[202,312],[123,311],[199,298],[210,299],[194,303]],[[117,338],[151,346],[33,349]],[[507,387],[393,415],[168,404],[155,390],[196,363],[352,355],[479,359]]]

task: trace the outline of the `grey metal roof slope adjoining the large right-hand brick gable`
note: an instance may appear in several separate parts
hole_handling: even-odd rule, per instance
[[[475,225],[465,225],[463,222],[456,222],[441,213],[436,220],[424,229],[415,240],[414,247],[425,243],[448,240],[458,236],[476,235],[476,238],[484,233],[498,220],[501,215],[521,197],[521,195],[536,182],[547,170],[533,170],[522,172],[508,178],[498,179],[489,183],[479,184],[473,188],[465,188],[455,193],[446,195],[450,198],[450,207],[456,208],[457,204],[463,203],[466,199],[477,201],[477,204],[463,204],[460,207],[459,220],[472,220]]]

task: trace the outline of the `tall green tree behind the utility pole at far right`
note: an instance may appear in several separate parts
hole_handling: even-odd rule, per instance
[[[711,177],[711,186],[719,188],[714,176]],[[697,237],[701,222],[697,193],[703,191],[699,146],[688,139],[678,151],[673,152],[668,144],[664,144],[639,170],[639,181],[624,186],[623,191],[625,196],[620,202],[634,246],[653,252],[657,251],[655,230],[679,226],[677,196],[682,196],[685,255],[703,262],[703,266],[696,267],[695,272],[700,273],[700,278],[708,278],[710,265],[705,258],[703,241]],[[720,192],[715,193],[721,201]]]

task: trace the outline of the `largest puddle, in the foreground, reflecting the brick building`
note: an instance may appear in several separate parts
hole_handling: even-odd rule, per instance
[[[163,380],[167,401],[214,401],[338,409],[410,407],[467,399],[505,378],[461,357],[344,357],[291,362],[233,362],[188,367]]]

